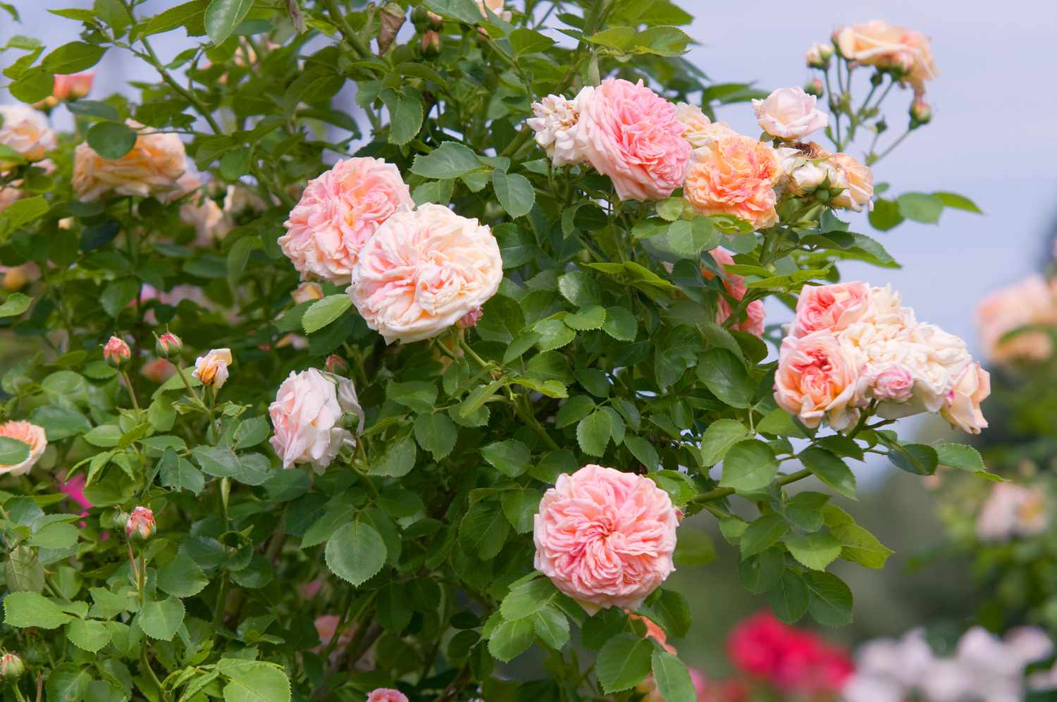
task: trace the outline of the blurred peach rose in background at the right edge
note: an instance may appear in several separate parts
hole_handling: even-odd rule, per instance
[[[1053,339],[1045,330],[1012,331],[1033,325],[1057,325],[1057,298],[1039,275],[998,290],[977,307],[977,329],[984,353],[996,363],[1045,361],[1053,353]]]

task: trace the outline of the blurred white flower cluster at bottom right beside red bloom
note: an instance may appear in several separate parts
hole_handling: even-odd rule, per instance
[[[1057,667],[1024,668],[1053,655],[1054,645],[1038,627],[999,638],[982,627],[966,631],[952,655],[939,657],[922,629],[898,640],[878,639],[856,651],[856,670],[843,688],[845,702],[1014,702],[1028,690],[1057,688]]]

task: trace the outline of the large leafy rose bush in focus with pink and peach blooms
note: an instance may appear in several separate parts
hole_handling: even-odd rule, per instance
[[[875,182],[928,122],[921,35],[813,49],[827,114],[706,79],[667,0],[93,7],[2,48],[16,697],[693,700],[682,520],[840,626],[830,565],[890,553],[849,463],[983,472],[891,427],[986,424],[965,345],[839,282],[896,265],[842,216],[976,210]],[[71,87],[107,52],[156,81]],[[906,132],[850,154],[886,98]],[[762,140],[716,119],[752,99]]]

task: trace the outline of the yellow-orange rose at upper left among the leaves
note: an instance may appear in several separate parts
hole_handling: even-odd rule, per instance
[[[187,171],[187,152],[177,134],[159,134],[132,119],[129,127],[140,132],[132,150],[116,161],[108,161],[88,145],[74,152],[73,189],[84,202],[114,193],[146,198],[178,189]]]

